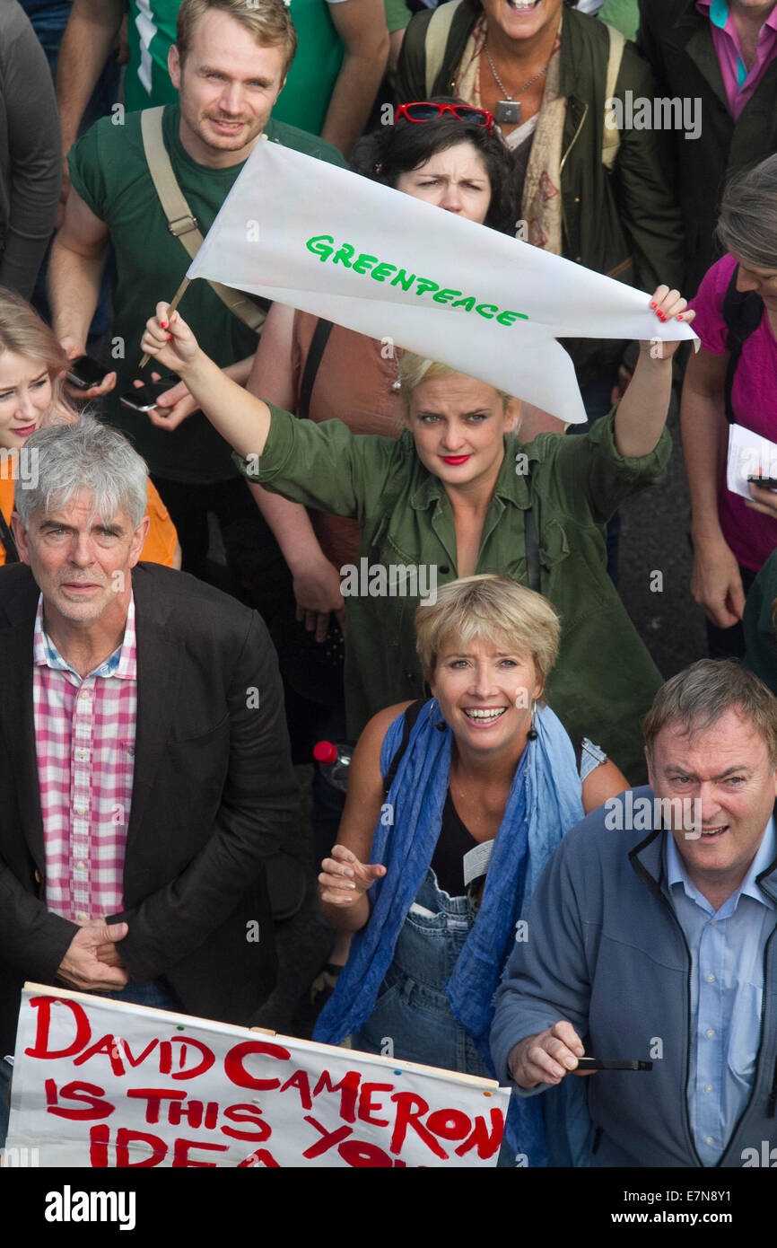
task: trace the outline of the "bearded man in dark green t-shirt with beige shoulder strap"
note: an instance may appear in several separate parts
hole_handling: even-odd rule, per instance
[[[180,104],[163,115],[171,163],[206,235],[243,162],[262,137],[333,163],[333,147],[293,126],[269,120],[296,47],[283,0],[183,0],[178,44],[170,72]],[[105,417],[122,429],[148,463],[178,529],[183,568],[205,575],[207,514],[220,522],[227,562],[242,579],[262,582],[262,560],[279,559],[248,489],[232,464],[229,447],[202,413],[175,429],[122,407],[118,396],[138,376],[140,339],[157,300],[171,298],[190,265],[183,243],[170,233],[143,154],[141,112],[123,124],[104,117],[70,154],[71,191],[49,270],[54,331],[74,358],[85,351],[96,305],[105,250],[117,262],[111,356],[115,372],[89,396],[105,396]],[[182,312],[206,349],[238,382],[248,378],[256,334],[205,281],[183,296]],[[253,560],[253,568],[246,567]],[[257,572],[258,568],[258,572]]]

